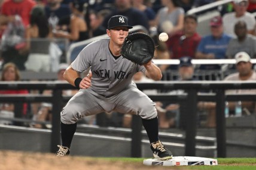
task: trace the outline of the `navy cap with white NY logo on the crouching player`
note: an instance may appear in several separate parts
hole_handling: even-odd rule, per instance
[[[108,30],[114,27],[128,27],[132,29],[132,26],[128,25],[128,18],[124,16],[112,16],[108,20]]]

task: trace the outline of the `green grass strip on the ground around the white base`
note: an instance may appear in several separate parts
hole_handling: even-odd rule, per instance
[[[121,161],[129,163],[143,162],[145,158],[130,157],[104,157],[110,161]],[[172,169],[206,169],[206,170],[256,170],[256,158],[215,158],[218,160],[218,166],[173,166]]]

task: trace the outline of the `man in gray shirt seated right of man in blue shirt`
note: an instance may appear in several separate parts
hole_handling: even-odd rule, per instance
[[[247,52],[252,58],[256,57],[256,39],[249,35],[245,21],[237,21],[234,25],[236,38],[233,38],[228,43],[226,55],[228,58],[234,58],[237,52]]]

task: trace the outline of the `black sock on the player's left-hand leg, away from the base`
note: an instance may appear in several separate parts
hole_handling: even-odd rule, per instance
[[[61,122],[61,135],[62,135],[62,146],[70,149],[72,138],[74,137],[75,131],[77,130],[77,123],[64,124]]]

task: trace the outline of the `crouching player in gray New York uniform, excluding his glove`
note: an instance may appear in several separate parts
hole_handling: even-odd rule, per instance
[[[141,116],[154,157],[160,160],[172,158],[172,153],[159,140],[155,103],[132,82],[137,72],[159,81],[161,71],[151,61],[140,66],[120,54],[124,38],[131,28],[126,17],[111,17],[106,30],[109,38],[87,45],[66,69],[64,78],[69,84],[80,88],[80,91],[60,113],[62,145],[58,146],[57,156],[69,154],[78,119],[115,110]],[[89,75],[80,78],[80,73],[89,68]]]

